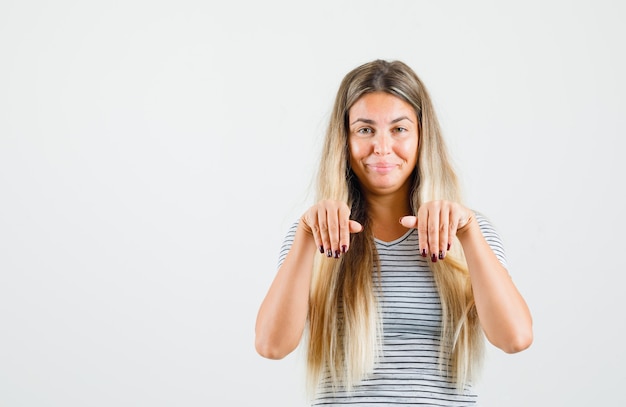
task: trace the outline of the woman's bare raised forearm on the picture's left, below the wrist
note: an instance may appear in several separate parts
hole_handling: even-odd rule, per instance
[[[299,344],[309,307],[315,241],[302,225],[261,303],[255,327],[257,352],[281,359]]]

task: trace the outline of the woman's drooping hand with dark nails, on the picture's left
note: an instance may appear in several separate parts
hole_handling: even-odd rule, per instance
[[[358,233],[363,226],[350,220],[350,208],[340,201],[320,201],[309,208],[302,218],[302,227],[315,239],[320,253],[338,259],[350,248],[350,233]]]

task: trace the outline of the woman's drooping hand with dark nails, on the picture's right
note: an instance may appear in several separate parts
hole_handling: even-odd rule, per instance
[[[443,260],[456,236],[470,224],[474,214],[461,204],[451,201],[426,202],[417,216],[404,216],[400,223],[407,228],[417,228],[420,253],[431,261]]]

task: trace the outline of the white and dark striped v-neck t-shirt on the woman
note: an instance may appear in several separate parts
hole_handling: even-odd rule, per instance
[[[506,267],[502,242],[488,220],[476,220],[492,250]],[[289,230],[282,246],[282,264],[297,228]],[[374,371],[351,393],[333,393],[326,383],[313,406],[476,406],[471,385],[456,390],[439,369],[441,303],[428,258],[419,255],[418,234],[410,229],[392,242],[375,239],[380,257],[383,339],[382,358]],[[445,261],[445,260],[444,260]]]

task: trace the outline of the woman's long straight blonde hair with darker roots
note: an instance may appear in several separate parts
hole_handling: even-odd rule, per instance
[[[418,164],[413,172],[411,208],[423,202],[460,202],[430,96],[413,70],[400,61],[375,60],[349,72],[341,82],[326,131],[317,178],[317,199],[346,202],[364,230],[352,235],[341,259],[316,256],[307,324],[307,383],[313,394],[325,377],[348,391],[372,371],[379,355],[381,316],[376,292],[380,269],[374,236],[356,176],[349,167],[348,111],[363,95],[383,91],[415,109],[419,121]],[[442,306],[440,368],[460,389],[481,359],[484,342],[467,265],[458,241],[445,261],[430,263]],[[378,273],[373,273],[377,270]]]

